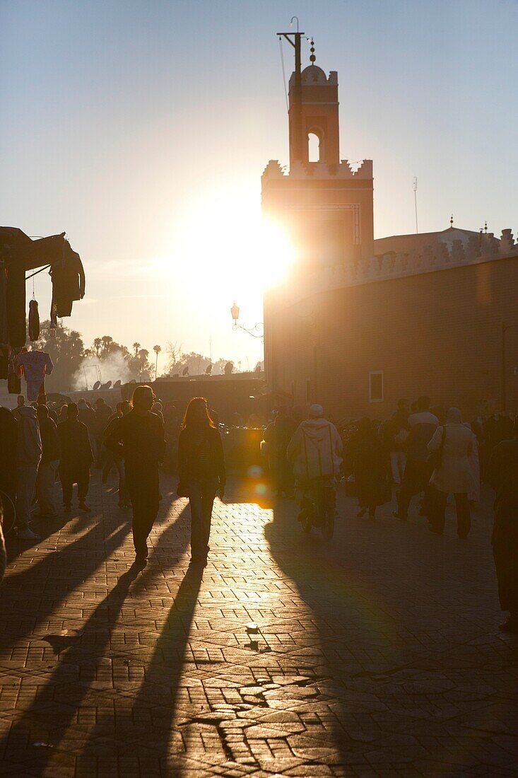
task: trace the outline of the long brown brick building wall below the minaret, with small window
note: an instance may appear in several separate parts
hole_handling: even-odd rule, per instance
[[[398,398],[429,394],[469,418],[499,408],[502,321],[518,324],[518,258],[334,289],[265,305],[268,381],[295,405],[337,418],[387,416]],[[507,410],[518,412],[518,328],[506,334]],[[369,372],[384,396],[369,401]],[[309,382],[309,383],[308,383]]]

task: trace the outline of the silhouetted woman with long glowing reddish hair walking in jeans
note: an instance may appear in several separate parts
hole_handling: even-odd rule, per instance
[[[207,401],[195,397],[187,405],[178,441],[178,495],[191,505],[191,565],[207,564],[212,505],[223,498],[226,474],[223,447]]]

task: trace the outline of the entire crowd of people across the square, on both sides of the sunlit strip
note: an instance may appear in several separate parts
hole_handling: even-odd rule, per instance
[[[136,387],[131,403],[117,403],[114,410],[102,398],[95,407],[80,400],[55,408],[44,397],[35,405],[20,396],[13,412],[0,408],[0,496],[16,504],[20,539],[37,538],[30,527],[34,513],[58,516],[57,478],[65,512],[72,510],[74,485],[78,509],[88,512],[91,468],[102,469],[105,483],[115,468],[119,506],[132,509],[135,564],[145,566],[163,468],[177,472],[177,494],[190,501],[191,564],[206,565],[212,507],[215,496],[224,495],[226,469],[217,415],[205,398],[191,400],[183,421],[147,386]],[[300,500],[308,478],[331,477],[358,499],[358,517],[373,520],[378,507],[394,499],[394,517],[401,521],[420,496],[415,506],[434,534],[444,532],[452,495],[457,534],[465,540],[480,484],[488,482],[496,495],[492,543],[499,596],[509,612],[502,629],[516,631],[518,419],[494,413],[466,423],[458,408],[442,416],[425,396],[411,406],[401,399],[389,419],[342,425],[325,419],[320,405],[310,406],[307,419],[297,408],[281,409],[263,425],[261,443],[272,492]]]

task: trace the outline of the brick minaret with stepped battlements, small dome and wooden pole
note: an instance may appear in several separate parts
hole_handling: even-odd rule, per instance
[[[289,79],[289,173],[271,160],[262,179],[262,207],[289,230],[299,272],[355,265],[373,256],[373,163],[340,159],[338,74],[311,64],[301,71],[303,33],[279,33],[295,49]],[[312,153],[310,153],[310,151]]]

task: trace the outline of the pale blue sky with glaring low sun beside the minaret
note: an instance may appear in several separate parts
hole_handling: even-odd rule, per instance
[[[516,234],[516,0],[0,0],[0,221],[66,231],[86,345],[262,358],[229,308],[261,322],[278,264],[261,173],[288,162],[294,14],[338,71],[341,158],[373,159],[375,237],[415,230],[414,176],[419,231]],[[47,273],[34,292],[47,317]]]

